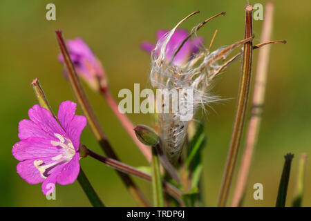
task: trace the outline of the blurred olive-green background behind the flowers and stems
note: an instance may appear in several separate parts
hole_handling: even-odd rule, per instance
[[[46,4],[55,3],[56,21],[46,21]],[[156,31],[172,28],[194,10],[200,14],[182,27],[191,29],[196,23],[226,11],[202,28],[199,35],[209,44],[215,29],[218,35],[213,48],[232,44],[243,38],[244,10],[247,1],[7,1],[0,3],[0,206],[91,206],[77,182],[57,185],[57,200],[46,200],[41,185],[30,185],[16,173],[17,160],[12,145],[18,141],[17,125],[28,118],[28,109],[36,104],[30,82],[39,77],[53,109],[73,100],[68,82],[57,61],[59,48],[54,30],[62,29],[66,39],[82,37],[100,58],[109,77],[113,96],[122,88],[133,90],[134,83],[149,88],[150,57],[140,50],[142,41],[155,41]],[[265,1],[249,1],[263,3]],[[272,39],[286,39],[286,45],[271,50],[267,83],[267,101],[256,154],[252,164],[245,206],[274,206],[283,167],[283,155],[295,154],[292,164],[288,205],[291,204],[299,155],[310,153],[310,26],[311,1],[274,1]],[[254,42],[259,42],[263,21],[254,21]],[[254,52],[254,65],[258,52]],[[206,206],[216,206],[223,175],[234,109],[240,63],[236,62],[218,78],[214,93],[232,98],[214,105],[205,115],[208,135],[204,150],[204,195]],[[255,69],[254,69],[255,70]],[[86,88],[91,104],[104,131],[122,161],[133,166],[147,165],[100,95]],[[129,115],[134,124],[151,124],[151,117]],[[89,128],[82,142],[101,153]],[[241,152],[240,152],[241,153]],[[107,206],[136,206],[115,171],[93,159],[81,161],[84,171]],[[310,165],[310,163],[308,164]],[[151,200],[151,185],[135,179]],[[263,184],[263,200],[254,200],[252,186]],[[307,167],[303,206],[311,206],[311,170]],[[233,189],[232,189],[233,190]],[[232,191],[231,191],[232,192]]]

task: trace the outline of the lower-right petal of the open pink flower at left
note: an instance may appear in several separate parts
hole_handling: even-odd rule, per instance
[[[77,180],[80,171],[79,157],[79,153],[76,153],[73,160],[68,162],[68,164],[62,168],[62,171],[57,176],[57,183],[67,185],[72,184]]]

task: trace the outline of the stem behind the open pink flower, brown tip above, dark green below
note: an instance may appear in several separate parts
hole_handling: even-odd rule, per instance
[[[53,115],[53,117],[58,121],[57,117],[52,111],[52,108],[50,107],[50,104],[48,104],[48,99],[46,99],[46,95],[44,95],[44,90],[41,88],[41,85],[39,83],[39,79],[34,79],[31,83],[32,88],[35,90],[35,94],[37,96],[39,105],[48,109],[50,113]],[[80,172],[77,177],[77,180],[79,181],[79,184],[82,186],[82,189],[84,190],[84,193],[86,193],[88,200],[90,200],[91,204],[93,206],[103,207],[104,204],[102,200],[98,197],[97,193],[93,189],[93,186],[88,181],[88,178],[82,171],[82,167],[80,166]]]

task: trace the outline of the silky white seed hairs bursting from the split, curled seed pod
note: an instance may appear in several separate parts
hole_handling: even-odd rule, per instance
[[[198,12],[193,12],[185,19],[182,19],[182,21],[180,21],[172,30],[167,32],[161,39],[158,40],[156,48],[154,48],[151,52],[150,73],[150,80],[153,88],[162,90],[175,89],[178,92],[182,89],[186,89],[182,90],[182,93],[187,91],[187,89],[192,90],[193,93],[190,98],[187,97],[186,92],[184,93],[185,100],[182,101],[182,105],[187,107],[190,106],[194,115],[198,111],[198,108],[202,108],[202,110],[205,111],[205,106],[220,99],[210,93],[211,83],[214,77],[216,77],[216,75],[221,73],[229,64],[232,63],[225,62],[225,59],[229,53],[250,40],[245,39],[238,41],[231,46],[223,46],[212,52],[205,48],[205,46],[201,45],[199,46],[200,50],[195,55],[191,55],[185,64],[182,64],[181,66],[174,65],[172,62],[174,56],[180,50],[183,43],[185,43],[185,40],[189,39],[189,37],[196,37],[198,29],[207,23],[207,21],[217,17],[218,15],[225,15],[225,12],[222,12],[199,23],[191,30],[190,36],[182,42],[179,48],[168,48],[168,43],[178,26],[196,13]],[[168,50],[173,50],[175,52],[170,60],[167,59],[166,56]],[[177,101],[174,101],[173,98],[171,98],[170,104],[173,104],[174,102]],[[170,104],[165,104],[164,99],[162,99],[162,108]],[[187,121],[181,120],[180,117],[183,113],[180,113],[179,108],[177,112],[171,111],[171,108],[169,110],[169,113],[163,113],[163,111],[162,113],[158,113],[158,129],[160,142],[164,152],[170,162],[172,164],[176,164],[182,153],[182,148],[185,146],[185,142],[187,141],[187,128],[191,119]]]

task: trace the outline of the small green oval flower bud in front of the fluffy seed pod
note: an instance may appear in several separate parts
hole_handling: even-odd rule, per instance
[[[142,142],[147,146],[155,146],[158,144],[159,136],[156,131],[153,131],[153,128],[145,125],[138,125],[134,128],[135,135]]]

